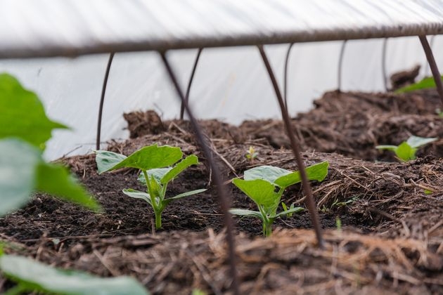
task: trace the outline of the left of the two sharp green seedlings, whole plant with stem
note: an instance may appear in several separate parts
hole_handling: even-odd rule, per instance
[[[162,212],[174,199],[181,199],[206,190],[192,190],[166,198],[168,183],[173,181],[176,176],[189,166],[198,164],[198,158],[195,155],[190,155],[184,159],[182,157],[183,152],[181,152],[180,147],[171,147],[169,145],[142,147],[128,157],[116,152],[96,151],[98,173],[121,168],[141,170],[138,180],[143,185],[146,185],[146,192],[127,188],[123,190],[123,193],[129,197],[144,199],[153,207],[155,228],[162,227]],[[177,163],[180,159],[182,159],[181,162]]]

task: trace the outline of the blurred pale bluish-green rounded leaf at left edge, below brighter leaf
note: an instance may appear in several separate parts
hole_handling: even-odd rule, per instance
[[[0,216],[29,201],[41,151],[15,138],[0,140]]]

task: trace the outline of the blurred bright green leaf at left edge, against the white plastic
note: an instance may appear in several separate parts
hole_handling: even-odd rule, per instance
[[[9,74],[0,74],[0,110],[0,138],[22,138],[41,150],[53,129],[68,129],[46,117],[37,95]]]

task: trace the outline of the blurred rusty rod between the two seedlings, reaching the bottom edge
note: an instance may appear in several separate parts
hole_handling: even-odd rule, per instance
[[[236,269],[236,249],[235,249],[235,241],[233,236],[234,226],[231,214],[229,214],[229,208],[231,207],[231,202],[229,201],[229,197],[226,193],[226,189],[221,178],[221,173],[217,167],[217,164],[215,164],[214,158],[212,157],[212,152],[210,150],[209,143],[207,142],[207,139],[203,135],[203,131],[200,128],[197,120],[195,119],[193,112],[191,111],[191,108],[189,107],[188,102],[185,99],[183,91],[181,91],[179,82],[177,81],[174,71],[172,70],[172,67],[171,65],[169,65],[169,62],[167,60],[166,52],[159,52],[159,53],[162,57],[162,61],[163,64],[165,65],[167,73],[169,74],[169,78],[171,79],[172,84],[174,84],[179,99],[181,100],[181,103],[183,103],[186,113],[188,114],[191,126],[195,131],[195,136],[198,140],[198,143],[200,144],[200,148],[203,150],[203,155],[205,155],[207,162],[210,164],[210,168],[212,169],[212,180],[217,186],[217,197],[219,199],[221,213],[224,216],[224,224],[226,225],[226,240],[228,242],[229,267],[230,267],[231,280],[232,280],[231,288],[233,294],[238,295],[240,294],[240,290],[239,290],[239,282],[238,282],[237,269]]]

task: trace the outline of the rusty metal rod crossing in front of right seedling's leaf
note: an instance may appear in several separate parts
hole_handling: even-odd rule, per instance
[[[269,78],[271,79],[272,86],[274,86],[274,91],[276,92],[278,104],[280,105],[281,115],[283,117],[283,122],[285,123],[286,132],[288,133],[288,137],[290,140],[290,145],[293,147],[293,154],[295,156],[295,160],[297,162],[298,169],[300,171],[300,176],[302,176],[302,187],[304,190],[304,195],[306,195],[304,204],[306,204],[307,209],[309,210],[309,214],[311,215],[312,225],[314,226],[314,230],[316,233],[317,241],[319,243],[319,247],[323,248],[323,236],[321,234],[321,225],[319,221],[319,214],[316,209],[316,205],[314,202],[314,197],[312,197],[311,185],[309,184],[306,171],[304,170],[304,163],[302,160],[302,156],[300,155],[300,148],[298,147],[298,141],[294,136],[293,127],[290,124],[289,114],[285,108],[285,104],[283,102],[283,98],[281,96],[281,91],[278,88],[278,83],[274,72],[272,71],[271,64],[267,58],[266,53],[264,52],[263,46],[257,46],[260,51],[260,55],[262,55],[263,63],[268,71]]]

